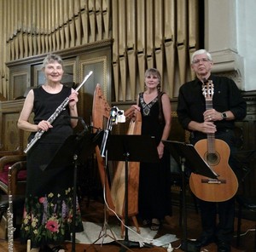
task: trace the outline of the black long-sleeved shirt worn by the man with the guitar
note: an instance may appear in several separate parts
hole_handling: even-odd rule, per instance
[[[241,91],[236,83],[228,77],[218,77],[211,75],[214,93],[212,96],[212,108],[218,112],[231,111],[236,120],[242,119],[247,113],[247,103],[241,97]],[[203,112],[206,111],[206,99],[202,94],[202,83],[195,80],[184,83],[178,94],[177,116],[183,129],[188,129],[191,121],[204,122]],[[233,129],[234,120],[216,121],[217,131],[223,129]]]

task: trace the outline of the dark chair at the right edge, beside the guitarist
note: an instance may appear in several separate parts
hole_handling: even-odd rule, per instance
[[[236,246],[240,245],[241,238],[241,219],[243,217],[243,211],[253,213],[253,220],[256,221],[256,195],[253,192],[248,192],[247,188],[250,183],[247,181],[250,175],[253,172],[253,169],[256,168],[255,159],[256,151],[243,151],[236,154],[236,164],[239,168],[239,190],[236,193],[236,202],[238,203],[238,213],[237,213],[237,231],[236,231]],[[254,176],[253,176],[254,177]],[[255,223],[256,228],[256,223]],[[254,250],[256,251],[256,232],[254,236]]]

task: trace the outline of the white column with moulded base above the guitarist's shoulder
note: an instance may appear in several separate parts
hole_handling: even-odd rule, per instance
[[[205,1],[205,48],[212,54],[212,72],[230,75],[244,89],[243,58],[237,49],[236,0]]]

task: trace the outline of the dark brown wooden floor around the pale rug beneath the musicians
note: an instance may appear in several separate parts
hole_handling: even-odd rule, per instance
[[[96,223],[102,223],[104,218],[103,213],[103,204],[100,200],[90,200],[89,205],[88,202],[81,203],[81,209],[83,214],[84,221],[92,221]],[[200,224],[200,215],[196,213],[195,209],[187,209],[187,234],[188,238],[197,238],[201,232],[201,224]],[[173,215],[168,220],[166,220],[160,228],[156,237],[160,237],[163,234],[171,233],[175,234],[177,238],[183,238],[183,226],[179,226],[179,215],[180,209],[177,206],[173,206]],[[110,216],[108,218],[108,223],[112,223],[117,221],[115,217]],[[236,223],[235,223],[236,225]],[[247,230],[255,228],[254,221],[242,220],[241,232],[247,232]],[[182,249],[178,249],[181,243],[181,239],[172,243],[172,247],[175,248],[174,251],[183,251]],[[247,232],[246,235],[241,237],[241,245],[239,248],[236,248],[236,238],[234,237],[234,241],[232,244],[232,252],[253,252],[253,243],[254,243],[254,232]],[[161,247],[153,247],[153,248],[128,248],[125,249],[123,246],[115,243],[115,244],[103,244],[103,245],[92,245],[92,244],[80,244],[76,243],[75,246],[72,246],[72,243],[66,243],[67,251],[75,251],[77,252],[115,252],[115,251],[134,251],[134,252],[161,252],[166,251],[166,249]],[[0,240],[0,251],[7,252],[8,242],[4,239]],[[21,245],[19,238],[15,238],[14,243],[14,251],[15,252],[26,252],[26,245]],[[201,251],[217,251],[217,247],[215,243],[208,245],[205,248],[202,248]]]

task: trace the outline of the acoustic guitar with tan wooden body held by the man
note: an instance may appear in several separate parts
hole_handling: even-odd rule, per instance
[[[206,109],[212,109],[213,83],[208,80],[202,85],[202,93],[206,99]],[[218,174],[218,179],[207,178],[192,173],[189,186],[197,198],[210,202],[223,202],[232,198],[238,189],[238,181],[230,168],[230,147],[224,140],[215,139],[215,135],[207,134],[207,139],[199,140],[195,150],[201,158]]]

